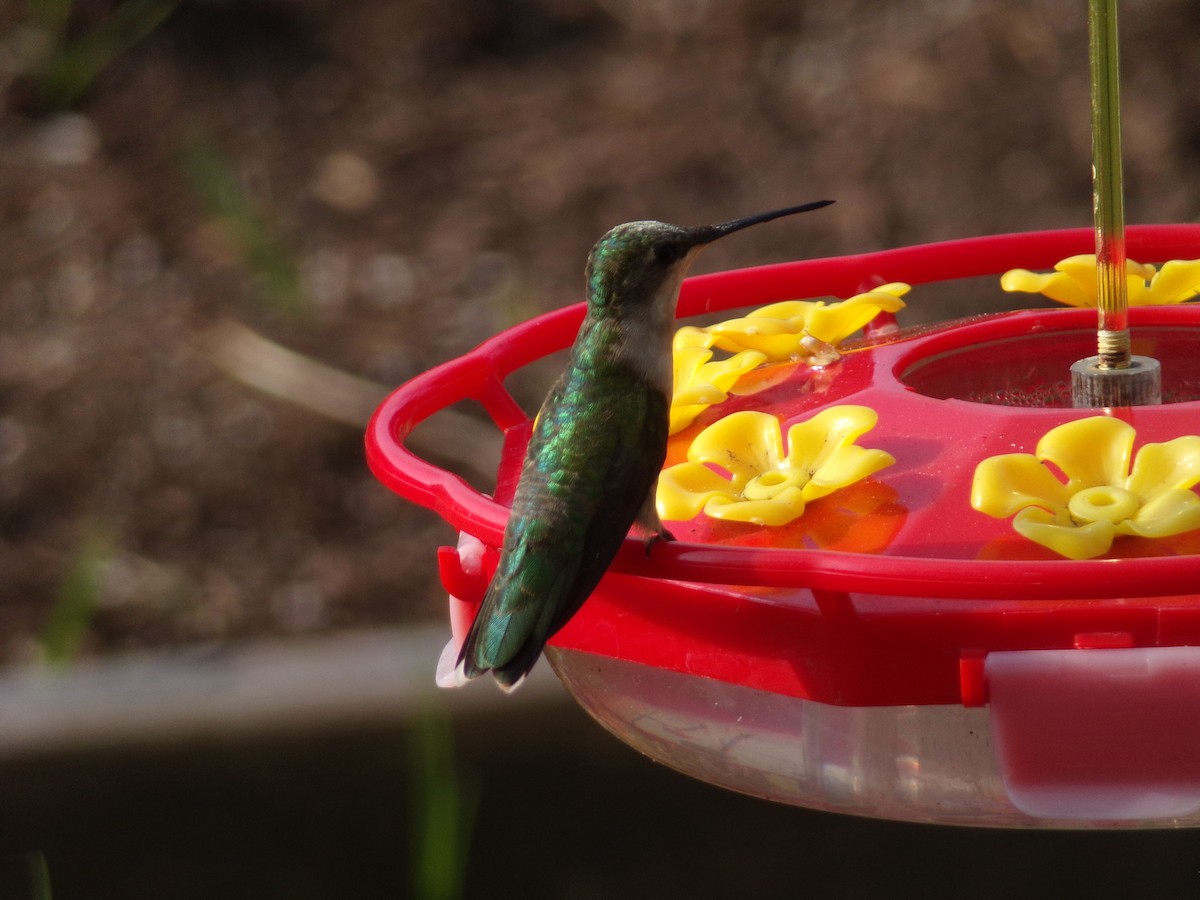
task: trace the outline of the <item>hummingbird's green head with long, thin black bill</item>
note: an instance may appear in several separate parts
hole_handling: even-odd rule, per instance
[[[647,307],[653,307],[670,318],[679,283],[703,247],[743,228],[830,203],[817,200],[696,228],[653,221],[619,224],[588,254],[588,305],[598,314],[644,316],[649,312]]]

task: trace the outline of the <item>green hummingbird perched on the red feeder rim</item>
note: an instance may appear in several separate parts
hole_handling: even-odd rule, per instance
[[[830,203],[695,228],[629,222],[592,248],[587,313],[534,422],[496,575],[448,682],[491,672],[514,690],[631,528],[646,538],[647,553],[673,540],[659,521],[654,486],[666,457],[683,278],[716,239]]]

